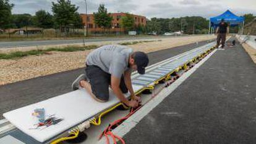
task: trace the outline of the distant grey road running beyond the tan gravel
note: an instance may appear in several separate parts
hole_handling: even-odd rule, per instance
[[[141,40],[141,39],[155,39],[155,38],[169,38],[174,36],[146,36],[146,37],[126,37],[126,38],[88,38],[87,42],[96,41],[122,41],[122,40]],[[83,39],[76,40],[40,40],[40,41],[6,41],[0,42],[0,48],[15,48],[15,47],[28,47],[28,46],[44,46],[54,44],[75,44],[83,43]]]

